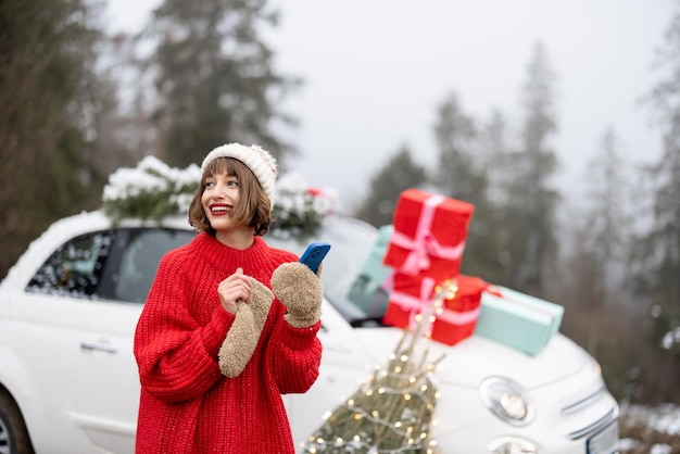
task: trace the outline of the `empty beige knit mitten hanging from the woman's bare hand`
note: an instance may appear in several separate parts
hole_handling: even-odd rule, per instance
[[[243,371],[260,341],[260,335],[274,301],[274,294],[262,282],[252,279],[250,302],[238,302],[236,319],[219,349],[219,369],[227,377]]]

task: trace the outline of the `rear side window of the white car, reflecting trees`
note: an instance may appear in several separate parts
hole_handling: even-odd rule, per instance
[[[26,291],[92,298],[111,251],[112,234],[99,231],[60,247],[33,276]]]

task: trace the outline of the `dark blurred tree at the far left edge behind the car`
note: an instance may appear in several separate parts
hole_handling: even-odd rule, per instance
[[[101,197],[96,18],[81,0],[0,3],[0,277],[52,220]]]

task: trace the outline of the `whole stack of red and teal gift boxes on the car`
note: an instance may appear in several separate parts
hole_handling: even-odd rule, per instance
[[[362,295],[364,308],[375,310],[382,295],[385,324],[425,324],[428,337],[448,345],[476,333],[536,355],[558,331],[564,308],[459,274],[474,211],[419,189],[402,192],[393,224],[380,230],[350,298],[358,304]]]

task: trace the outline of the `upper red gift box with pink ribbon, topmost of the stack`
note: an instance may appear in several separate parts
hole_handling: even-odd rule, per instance
[[[383,263],[402,273],[443,281],[456,276],[475,206],[407,189],[394,210],[394,231]]]

